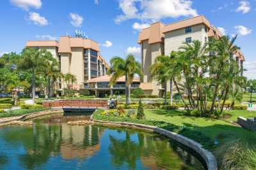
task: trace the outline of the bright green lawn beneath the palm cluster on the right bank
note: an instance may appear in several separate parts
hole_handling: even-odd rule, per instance
[[[256,133],[247,131],[230,123],[236,121],[237,117],[255,117],[256,111],[232,110],[228,111],[230,118],[215,120],[211,118],[186,117],[183,111],[177,110],[145,110],[145,116],[148,120],[157,120],[170,122],[175,125],[185,125],[193,130],[203,132],[211,139],[217,138],[220,143],[227,139],[245,140],[248,142],[256,140]]]

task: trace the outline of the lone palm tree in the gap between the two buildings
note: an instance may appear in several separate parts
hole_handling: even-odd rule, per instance
[[[126,59],[113,57],[110,60],[111,67],[108,74],[111,75],[111,84],[118,78],[125,76],[125,104],[131,103],[131,83],[136,74],[143,78],[140,62],[134,59],[133,55],[128,55]]]

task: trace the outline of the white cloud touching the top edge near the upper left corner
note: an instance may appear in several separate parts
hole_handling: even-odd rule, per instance
[[[11,3],[23,10],[28,11],[29,8],[39,9],[42,6],[41,0],[10,0]]]

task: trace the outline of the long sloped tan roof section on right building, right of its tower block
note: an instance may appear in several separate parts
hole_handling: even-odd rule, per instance
[[[188,18],[186,20],[181,20],[179,22],[174,22],[174,23],[165,25],[163,32],[165,33],[165,32],[169,32],[169,31],[174,31],[177,29],[182,29],[185,27],[198,25],[198,24],[204,24],[209,28],[211,27],[210,22],[204,17],[204,15],[198,15],[193,18]]]

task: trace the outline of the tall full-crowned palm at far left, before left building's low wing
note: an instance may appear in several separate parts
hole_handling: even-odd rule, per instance
[[[36,48],[24,48],[21,52],[21,59],[18,64],[18,69],[22,71],[29,71],[31,76],[31,89],[32,89],[32,99],[35,103],[35,80],[36,74],[42,70],[45,66],[45,53],[46,50],[38,50]]]

